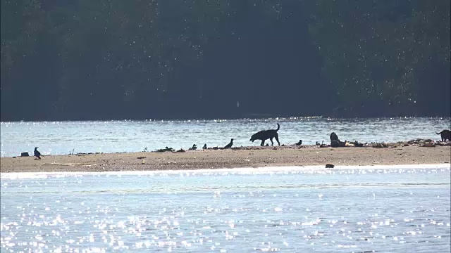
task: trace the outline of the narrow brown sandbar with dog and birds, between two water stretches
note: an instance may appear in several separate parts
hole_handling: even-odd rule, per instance
[[[377,166],[401,164],[445,164],[451,146],[395,145],[390,148],[242,147],[230,150],[187,150],[185,153],[109,153],[91,155],[47,155],[1,157],[0,172],[101,172],[180,169],[223,169],[286,166]],[[140,157],[140,158],[138,158]],[[142,158],[144,157],[144,158]]]

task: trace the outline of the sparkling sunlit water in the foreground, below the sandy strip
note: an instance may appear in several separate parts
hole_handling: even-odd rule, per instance
[[[446,165],[18,176],[1,252],[450,252]]]

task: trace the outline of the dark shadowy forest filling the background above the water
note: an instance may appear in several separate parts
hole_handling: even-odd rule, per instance
[[[450,116],[449,0],[1,0],[1,121]]]

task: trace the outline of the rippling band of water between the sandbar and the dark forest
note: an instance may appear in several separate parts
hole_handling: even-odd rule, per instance
[[[328,119],[292,117],[276,119],[191,120],[191,121],[107,121],[107,122],[1,122],[1,156],[43,154],[153,151],[166,146],[180,149],[206,143],[224,146],[230,138],[235,145],[259,145],[249,141],[263,129],[276,129],[280,123],[281,144],[328,143],[332,131],[343,141],[406,141],[412,138],[439,139],[435,132],[450,129],[450,118],[409,117],[381,119]],[[276,143],[277,144],[277,143]]]

